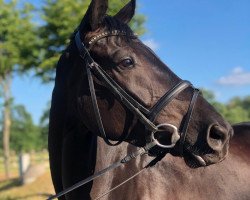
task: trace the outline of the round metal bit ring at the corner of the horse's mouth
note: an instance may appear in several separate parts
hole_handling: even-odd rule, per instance
[[[170,127],[170,128],[173,130],[172,136],[171,136],[171,143],[172,143],[172,144],[170,144],[170,145],[161,144],[160,141],[158,141],[158,140],[155,138],[155,134],[156,134],[157,132],[164,132],[163,129],[162,129],[162,130],[159,129],[159,128],[164,127],[164,126]],[[174,125],[172,125],[172,124],[168,124],[168,123],[159,124],[159,125],[157,125],[156,127],[157,127],[157,130],[155,130],[155,131],[153,131],[153,132],[151,133],[151,141],[152,141],[153,143],[155,143],[155,145],[157,145],[157,146],[159,146],[159,147],[162,147],[162,148],[173,148],[173,147],[176,145],[176,143],[178,142],[178,140],[180,139],[180,135],[179,135],[179,132],[178,132],[177,127],[174,126]]]

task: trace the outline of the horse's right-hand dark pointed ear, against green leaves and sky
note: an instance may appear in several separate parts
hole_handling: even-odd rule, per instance
[[[135,14],[136,0],[131,0],[114,17],[125,24],[129,23]]]

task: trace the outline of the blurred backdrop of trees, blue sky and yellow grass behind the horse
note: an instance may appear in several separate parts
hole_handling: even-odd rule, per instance
[[[54,193],[55,66],[89,0],[0,0],[0,200]],[[127,0],[109,0],[114,15]],[[250,1],[138,0],[132,29],[230,123],[250,121]]]

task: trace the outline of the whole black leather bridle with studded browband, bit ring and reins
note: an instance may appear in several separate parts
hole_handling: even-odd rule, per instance
[[[109,37],[109,36],[119,36],[119,35],[126,35],[126,33],[122,32],[122,31],[117,31],[117,30],[111,31],[111,32],[104,32],[104,33],[101,33],[101,34],[93,37],[92,39],[90,39],[88,44],[93,45],[96,41],[98,41],[101,38]],[[136,36],[135,35],[130,35],[130,37],[136,37]],[[66,194],[66,193],[68,193],[68,192],[70,192],[70,191],[72,191],[72,190],[74,190],[74,189],[76,189],[76,188],[78,188],[78,187],[80,187],[80,186],[82,186],[84,184],[87,184],[88,182],[98,178],[99,176],[103,175],[107,171],[109,171],[111,169],[114,169],[116,167],[119,167],[120,165],[122,165],[124,163],[129,162],[131,159],[136,158],[137,156],[144,155],[144,154],[148,153],[148,151],[154,146],[158,146],[158,147],[164,148],[164,149],[169,149],[169,148],[173,148],[176,145],[176,143],[179,141],[179,145],[180,145],[179,152],[180,152],[181,155],[183,155],[183,145],[184,145],[184,142],[185,142],[185,138],[186,138],[187,130],[188,130],[188,127],[189,127],[189,123],[190,123],[190,120],[191,120],[191,117],[192,117],[195,102],[196,102],[197,97],[199,95],[199,90],[194,88],[189,81],[183,81],[182,80],[178,84],[176,84],[173,88],[171,88],[169,91],[167,91],[156,102],[156,104],[152,108],[147,109],[142,104],[140,104],[137,100],[135,100],[131,95],[129,95],[121,86],[119,86],[119,84],[116,83],[106,73],[106,71],[104,71],[102,69],[102,67],[100,67],[100,65],[98,65],[94,61],[94,59],[91,57],[91,55],[89,53],[90,49],[87,49],[86,46],[84,45],[84,43],[81,41],[79,31],[75,35],[75,43],[76,43],[77,49],[79,51],[79,56],[82,58],[82,61],[85,63],[85,66],[86,66],[86,72],[87,72],[87,78],[88,78],[88,83],[89,83],[89,90],[90,90],[91,101],[92,101],[92,105],[93,105],[93,109],[94,109],[94,114],[95,114],[95,118],[96,118],[96,121],[97,121],[98,129],[100,131],[100,135],[104,139],[104,141],[108,145],[116,146],[116,145],[119,145],[120,143],[122,143],[123,141],[125,141],[128,138],[129,133],[126,133],[126,134],[122,135],[116,143],[113,143],[108,139],[107,134],[106,134],[106,132],[104,130],[104,127],[103,127],[102,118],[101,118],[100,110],[99,110],[98,103],[97,103],[97,97],[96,97],[96,94],[95,94],[95,86],[94,86],[94,81],[93,81],[93,75],[98,80],[100,80],[101,83],[107,89],[109,89],[109,91],[117,98],[118,101],[120,101],[124,106],[126,106],[126,108],[128,108],[134,114],[134,116],[136,116],[137,119],[142,124],[144,124],[146,131],[151,132],[150,140],[146,144],[145,147],[140,148],[136,152],[125,156],[122,160],[120,160],[120,161],[118,161],[116,163],[113,163],[109,167],[107,167],[107,168],[99,171],[98,173],[84,179],[83,181],[78,182],[77,184],[71,186],[70,188],[67,188],[67,189],[63,190],[62,192],[60,192],[60,193],[58,193],[58,194],[56,194],[54,196],[51,196],[50,198],[48,198],[48,200],[58,198],[58,197],[60,197],[60,196],[62,196],[64,194]],[[157,118],[157,116],[159,115],[159,113],[161,112],[161,110],[163,108],[165,108],[178,94],[180,94],[182,91],[184,91],[188,87],[191,87],[193,89],[193,95],[192,95],[192,98],[190,100],[190,104],[189,104],[188,110],[186,112],[186,115],[183,117],[179,129],[176,126],[174,126],[172,124],[169,124],[169,123],[163,123],[163,124],[155,125],[154,121]],[[162,129],[161,129],[162,127],[168,127],[168,128],[171,128],[173,130],[170,145],[169,144],[167,144],[167,145],[161,144],[157,140],[157,138],[155,137],[155,134],[157,132],[162,131]],[[156,164],[156,162],[161,160],[165,156],[165,154],[157,155],[157,157],[155,159],[153,159],[143,169]],[[136,175],[138,175],[141,171],[139,171]],[[122,184],[124,184],[125,182],[127,182],[130,179],[131,178],[127,179]],[[121,184],[119,184],[119,186],[120,185]],[[111,192],[113,189],[116,189],[116,188],[117,187],[112,188],[111,190],[109,190],[109,192]],[[106,195],[106,194],[107,193],[105,193],[104,195]]]

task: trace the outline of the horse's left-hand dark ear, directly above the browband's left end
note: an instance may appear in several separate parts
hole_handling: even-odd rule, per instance
[[[90,25],[92,31],[100,27],[108,9],[108,0],[92,0],[82,20],[82,26]],[[83,28],[83,27],[82,27]]]

